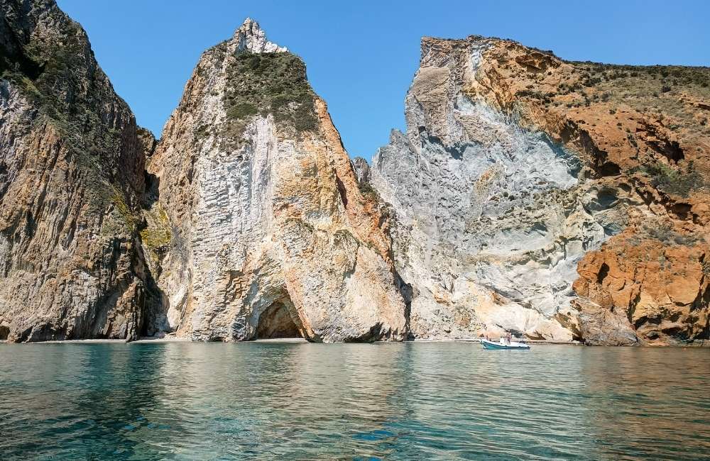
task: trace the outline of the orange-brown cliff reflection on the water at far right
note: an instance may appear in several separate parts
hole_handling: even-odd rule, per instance
[[[583,374],[591,428],[600,455],[609,459],[658,459],[669,451],[676,459],[698,457],[710,449],[707,400],[710,351],[628,348],[617,354],[591,350]],[[685,433],[687,442],[681,440]],[[629,453],[633,453],[630,455]]]

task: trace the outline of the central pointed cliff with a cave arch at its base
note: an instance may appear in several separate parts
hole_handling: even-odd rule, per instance
[[[151,329],[195,340],[402,339],[386,221],[305,65],[247,19],[204,52],[148,166],[165,293]]]

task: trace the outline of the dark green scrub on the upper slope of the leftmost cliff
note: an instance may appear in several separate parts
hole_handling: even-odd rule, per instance
[[[31,38],[12,51],[1,49],[0,78],[12,82],[38,109],[35,126],[48,123],[62,138],[67,157],[82,171],[79,181],[86,185],[89,213],[104,213],[114,204],[120,216],[129,216],[129,206],[115,194],[126,189],[120,184],[130,174],[118,165],[128,106],[92,64],[79,24],[60,14],[55,28],[53,40]],[[130,220],[119,221],[133,228]]]

